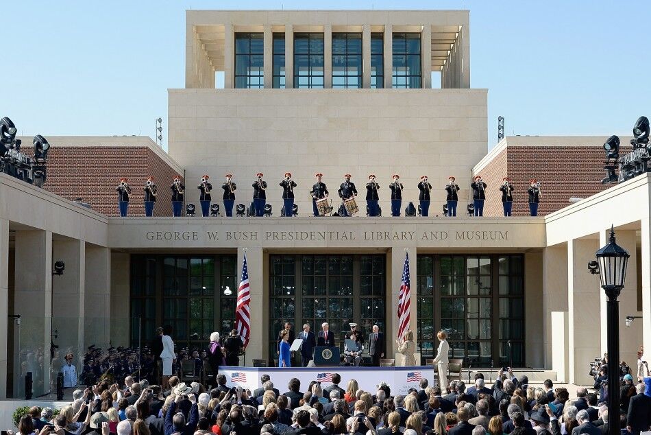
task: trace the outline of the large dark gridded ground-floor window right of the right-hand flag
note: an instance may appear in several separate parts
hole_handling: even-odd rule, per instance
[[[522,262],[521,255],[419,255],[421,355],[436,354],[436,333],[443,329],[452,358],[470,360],[473,366],[524,366]]]

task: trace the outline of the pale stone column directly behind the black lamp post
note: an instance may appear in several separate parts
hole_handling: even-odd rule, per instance
[[[611,230],[599,233],[599,247],[606,246],[609,243]],[[637,237],[635,230],[618,230],[615,228],[615,237],[617,244],[628,250],[630,258],[628,259],[628,271],[626,272],[626,287],[619,294],[619,361],[634,367],[637,364],[637,349],[642,344],[642,322],[639,319],[634,320],[630,327],[626,326],[626,316],[641,316],[642,313],[637,311],[637,250],[635,244]],[[642,263],[644,264],[644,263]],[[647,263],[648,264],[648,263]],[[601,354],[607,352],[608,336],[606,325],[606,292],[600,291],[601,300]],[[596,355],[595,355],[596,356]],[[636,368],[637,369],[637,368]]]

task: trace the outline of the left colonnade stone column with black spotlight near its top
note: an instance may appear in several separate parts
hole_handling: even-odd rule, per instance
[[[52,362],[56,376],[63,357],[72,352],[75,364],[84,362],[84,290],[86,276],[86,242],[75,239],[56,239],[52,242],[52,261],[63,261],[62,275],[52,277],[52,329],[56,329],[58,357]],[[81,371],[79,370],[79,373]]]

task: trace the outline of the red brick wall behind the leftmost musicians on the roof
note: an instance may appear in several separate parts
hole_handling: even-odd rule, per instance
[[[82,198],[93,210],[116,216],[119,210],[115,187],[125,176],[132,187],[128,215],[144,216],[143,187],[151,175],[158,186],[153,215],[171,216],[169,185],[175,174],[174,169],[147,147],[53,146],[48,153],[44,189],[69,200]]]

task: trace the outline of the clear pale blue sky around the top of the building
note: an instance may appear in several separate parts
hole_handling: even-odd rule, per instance
[[[307,5],[469,9],[471,86],[489,89],[489,148],[498,115],[508,135],[604,137],[651,117],[648,2],[602,0],[6,1],[0,116],[19,134],[153,137],[156,117],[167,126],[167,89],[184,87],[186,9]]]

